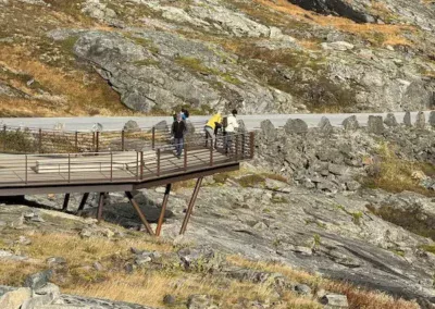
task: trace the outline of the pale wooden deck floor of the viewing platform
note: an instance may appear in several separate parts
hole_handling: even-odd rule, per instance
[[[187,151],[186,164],[184,154],[178,159],[172,151],[164,151],[160,156],[160,168],[158,173],[158,163],[146,162],[142,166],[134,162],[128,169],[113,168],[101,169],[100,171],[74,171],[70,172],[46,172],[37,173],[37,160],[50,160],[55,162],[52,156],[44,154],[4,154],[0,153],[0,187],[11,185],[25,185],[25,184],[71,184],[71,183],[94,183],[94,182],[132,182],[132,181],[147,181],[170,174],[178,174],[188,171],[197,171],[208,169],[210,166],[223,165],[225,163],[236,162],[234,157],[227,157],[222,151],[213,150],[212,160],[211,151],[206,148]],[[65,157],[63,157],[65,158]],[[95,163],[110,162],[110,154],[102,153],[95,157]],[[243,158],[238,158],[240,161]],[[75,160],[77,160],[75,158]],[[27,161],[27,163],[26,163]],[[53,163],[55,165],[55,163]]]

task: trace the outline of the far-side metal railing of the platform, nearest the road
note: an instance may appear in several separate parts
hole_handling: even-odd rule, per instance
[[[203,122],[191,122],[195,133]],[[156,149],[170,143],[172,123],[136,129],[79,132],[3,125],[0,152],[69,153]]]

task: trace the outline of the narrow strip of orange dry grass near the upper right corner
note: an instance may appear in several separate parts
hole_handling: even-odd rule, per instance
[[[339,30],[359,35],[372,42],[380,42],[378,37],[382,36],[381,45],[411,45],[411,42],[402,36],[402,32],[414,29],[411,26],[358,24],[344,17],[319,15],[311,11],[303,10],[298,5],[291,4],[287,0],[256,1],[266,8],[297,17],[297,20],[303,21],[304,23],[316,24],[325,27],[333,26]]]

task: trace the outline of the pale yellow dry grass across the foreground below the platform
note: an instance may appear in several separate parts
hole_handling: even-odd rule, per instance
[[[3,234],[3,240],[17,237],[15,232]],[[33,258],[32,261],[0,261],[0,284],[21,285],[26,275],[46,269],[49,257],[64,257],[67,267],[55,275],[53,281],[63,293],[123,300],[146,306],[162,306],[164,295],[171,294],[184,302],[191,294],[208,294],[222,308],[233,308],[240,298],[248,300],[277,301],[276,309],[284,308],[322,308],[315,300],[285,292],[278,299],[270,282],[253,284],[202,272],[186,273],[176,264],[164,264],[161,270],[137,270],[130,274],[123,271],[124,263],[130,258],[129,248],[142,250],[171,251],[174,248],[159,239],[140,236],[137,233],[126,238],[82,239],[75,234],[28,234],[29,246],[14,245],[12,248],[1,242],[0,247],[12,249]],[[97,271],[88,265],[99,261],[105,271]],[[277,272],[290,281],[309,284],[312,288],[343,293],[348,296],[350,308],[366,309],[417,309],[417,304],[394,299],[377,292],[369,292],[351,284],[338,283],[310,273],[294,270],[278,263],[249,261],[239,256],[227,257],[234,265],[259,271]]]

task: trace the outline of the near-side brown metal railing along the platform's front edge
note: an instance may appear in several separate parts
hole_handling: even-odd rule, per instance
[[[2,154],[0,187],[17,184],[144,182],[253,157],[252,132],[234,134],[229,149],[225,149],[224,138],[221,135],[216,137],[216,143],[210,143],[202,133],[190,136],[184,144],[181,158],[174,156],[176,145],[173,144],[140,151]]]

